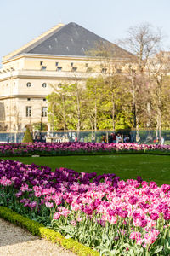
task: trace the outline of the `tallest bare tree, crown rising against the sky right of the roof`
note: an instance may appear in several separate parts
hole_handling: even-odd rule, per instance
[[[125,49],[133,54],[133,64],[129,65],[128,76],[132,83],[130,90],[133,96],[133,124],[137,130],[137,137],[142,107],[145,108],[146,116],[150,117],[149,87],[147,86],[148,73],[146,67],[150,58],[158,52],[161,39],[160,29],[155,30],[149,23],[143,23],[139,26],[130,27],[127,31],[127,38],[121,42]],[[142,102],[141,95],[143,97]],[[147,125],[150,126],[150,119],[148,119]]]

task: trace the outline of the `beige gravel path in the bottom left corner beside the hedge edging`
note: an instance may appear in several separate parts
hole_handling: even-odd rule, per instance
[[[0,218],[1,256],[76,256]]]

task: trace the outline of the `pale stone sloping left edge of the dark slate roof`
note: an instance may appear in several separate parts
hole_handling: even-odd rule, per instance
[[[43,32],[40,36],[38,36],[37,38],[32,39],[30,42],[28,42],[27,44],[24,44],[23,46],[21,46],[19,49],[15,49],[14,51],[12,51],[11,53],[9,53],[8,55],[3,56],[3,61],[7,61],[9,58],[13,57],[14,55],[17,55],[18,53],[20,53],[20,51],[22,51],[23,49],[26,49],[27,47],[31,46],[31,44],[35,44],[37,43],[37,41],[39,41],[40,39],[48,36],[48,34],[50,34],[51,32],[54,32],[56,29],[58,29],[59,27],[64,26],[64,24],[59,23],[56,26],[53,26],[52,28],[48,29],[48,31]]]

